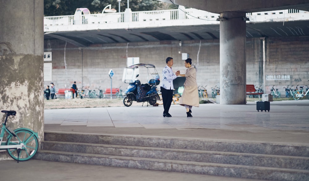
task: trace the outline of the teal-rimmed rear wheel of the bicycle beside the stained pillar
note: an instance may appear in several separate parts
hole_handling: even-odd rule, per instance
[[[16,137],[9,135],[7,138],[7,145],[18,145],[23,143],[25,147],[20,150],[19,158],[18,158],[18,150],[17,148],[8,148],[7,152],[12,157],[12,159],[19,161],[26,161],[31,159],[38,150],[38,139],[36,135],[33,134],[32,131],[27,129],[20,129],[15,131]]]

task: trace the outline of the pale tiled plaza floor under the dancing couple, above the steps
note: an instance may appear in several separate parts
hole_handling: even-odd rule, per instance
[[[193,117],[183,106],[97,107],[44,110],[44,130],[126,135],[236,139],[263,142],[309,143],[309,100],[270,102],[270,111],[246,105],[200,104]]]

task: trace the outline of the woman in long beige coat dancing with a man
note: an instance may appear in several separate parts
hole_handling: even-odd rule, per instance
[[[196,69],[191,66],[192,59],[188,58],[184,61],[184,66],[188,68],[186,74],[179,74],[186,78],[184,82],[184,92],[180,98],[179,104],[187,110],[187,117],[192,117],[192,106],[199,107],[198,90],[196,82]]]

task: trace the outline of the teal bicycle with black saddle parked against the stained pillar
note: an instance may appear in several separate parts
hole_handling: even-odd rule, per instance
[[[7,150],[8,154],[17,160],[17,163],[31,159],[38,150],[38,134],[27,128],[18,128],[13,131],[6,126],[6,122],[9,116],[16,115],[16,111],[1,112],[6,114],[6,118],[0,132],[0,150]],[[5,133],[7,133],[7,139],[3,141]]]

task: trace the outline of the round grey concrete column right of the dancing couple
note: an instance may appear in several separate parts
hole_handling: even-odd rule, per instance
[[[246,104],[246,14],[220,17],[220,104]]]

